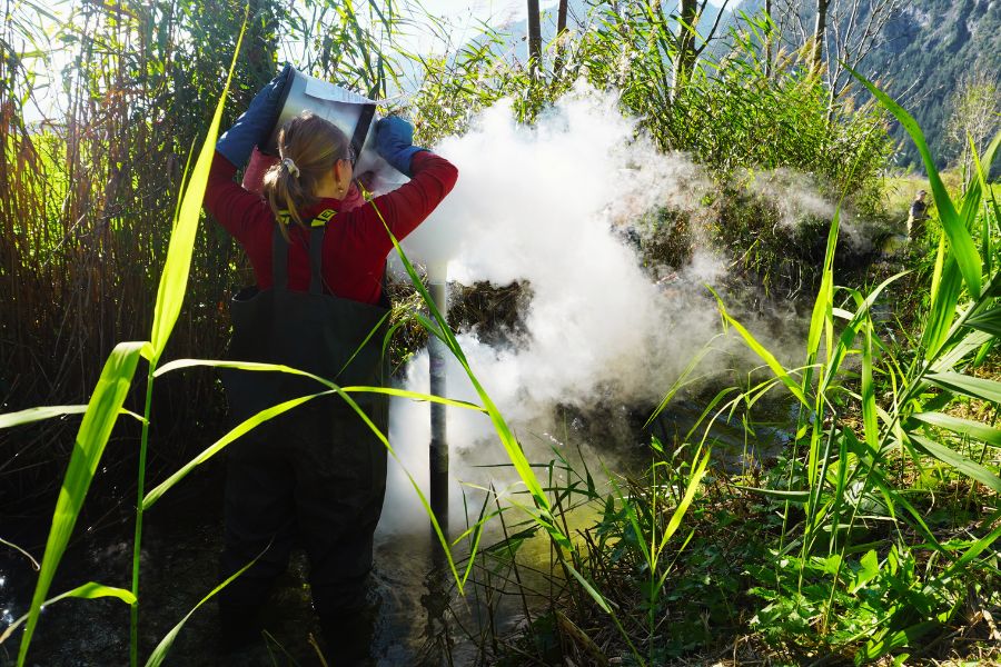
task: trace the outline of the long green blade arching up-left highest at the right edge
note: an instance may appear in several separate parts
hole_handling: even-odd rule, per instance
[[[861,81],[862,84],[865,86],[870,92],[872,92],[872,94],[874,94],[876,99],[893,113],[893,116],[896,117],[900,125],[911,136],[914,146],[918,147],[918,152],[921,153],[921,159],[924,161],[924,169],[928,173],[929,183],[931,185],[932,196],[935,199],[935,207],[939,210],[939,218],[942,220],[942,228],[949,237],[953,256],[963,275],[967,289],[970,290],[970,295],[972,295],[974,299],[978,298],[980,296],[982,270],[980,253],[977,250],[977,243],[973,242],[973,237],[970,236],[970,230],[957,212],[955,206],[953,206],[952,199],[949,197],[949,191],[945,189],[945,185],[939,176],[939,170],[935,168],[935,162],[931,157],[928,142],[924,140],[924,133],[921,131],[921,128],[918,126],[914,118],[904,111],[904,109],[891,99],[890,96],[870,83],[864,77],[851,68],[845,69],[859,79],[859,81]]]

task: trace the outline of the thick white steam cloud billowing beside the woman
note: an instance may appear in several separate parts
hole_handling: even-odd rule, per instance
[[[531,285],[526,334],[517,345],[492,347],[475,330],[458,340],[534,462],[552,458],[548,434],[563,434],[552,422],[556,406],[656,402],[721,330],[706,286],[725,275],[725,258],[708,242],[696,243],[688,265],[671,267],[670,278],[658,281],[624,240],[622,226],[656,207],[687,212],[697,229],[712,187],[684,155],[660,153],[634,130],[613,94],[589,88],[573,91],[534,127],[518,126],[509,104],[498,103],[470,131],[436,147],[458,167],[458,183],[403,243],[412,260],[429,267],[447,261],[452,281]],[[824,207],[805,201],[817,212]],[[733,337],[713,347],[743,351]],[[406,387],[428,392],[428,375],[424,351],[409,365]],[[448,397],[479,404],[450,358],[447,386]],[[458,498],[458,480],[498,479],[497,468],[475,465],[507,459],[484,415],[447,414],[456,479],[450,494]],[[394,399],[389,435],[426,490],[429,406]],[[389,477],[380,530],[425,530],[423,509],[397,465],[390,464]],[[462,502],[453,500],[452,508],[459,525]]]

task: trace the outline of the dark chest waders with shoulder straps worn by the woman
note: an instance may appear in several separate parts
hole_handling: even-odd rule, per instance
[[[384,386],[388,308],[324,292],[324,232],[334,217],[326,210],[310,225],[308,292],[288,289],[289,245],[276,225],[272,287],[246,288],[234,298],[229,359],[283,364],[343,387]],[[326,389],[283,372],[225,369],[221,376],[236,424]],[[388,397],[351,398],[388,432]],[[370,633],[365,580],[386,488],[383,442],[340,396],[331,395],[261,424],[230,446],[227,459],[222,574],[265,555],[221,593],[224,644],[238,645],[255,633],[259,637],[257,611],[285,571],[294,544],[300,544],[309,557],[324,635],[340,647],[334,655],[347,655],[343,650],[350,644],[355,648],[348,654],[364,656]]]

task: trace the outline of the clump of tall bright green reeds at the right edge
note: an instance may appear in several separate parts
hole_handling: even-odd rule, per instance
[[[763,618],[781,625],[781,615],[811,604],[806,591],[815,586],[817,564],[827,564],[822,571],[829,593],[817,603],[820,634],[825,635],[831,626],[845,623],[838,618],[845,590],[855,594],[870,585],[884,586],[883,579],[878,578],[879,573],[884,568],[895,573],[900,559],[906,558],[912,550],[931,551],[943,563],[943,567],[929,571],[916,584],[908,584],[920,586],[920,596],[891,595],[874,625],[853,638],[865,640],[860,655],[875,659],[916,641],[923,634],[948,621],[957,613],[962,599],[959,596],[964,594],[953,577],[961,567],[978,563],[990,545],[1001,537],[1001,531],[992,529],[992,519],[985,518],[979,535],[961,545],[942,544],[913,504],[906,487],[900,485],[900,480],[906,480],[910,474],[895,471],[909,461],[920,470],[923,460],[934,460],[960,478],[981,484],[994,494],[1001,492],[997,462],[989,464],[990,457],[974,460],[947,444],[978,442],[984,447],[984,454],[1001,445],[1001,430],[948,411],[958,398],[994,405],[1001,400],[1001,382],[971,372],[1001,332],[997,327],[1001,317],[997,302],[1001,276],[994,260],[999,209],[995,201],[988,205],[982,199],[982,195],[990,191],[987,169],[997,157],[1001,135],[984,153],[978,179],[954,201],[942,185],[913,118],[872,83],[861,77],[859,80],[910,132],[924,158],[941,216],[942,235],[929,311],[918,317],[922,326],[913,338],[913,347],[894,349],[881,340],[879,325],[872,316],[873,303],[902,273],[890,277],[869,293],[835,286],[836,217],[827,239],[823,279],[814,302],[802,367],[782,366],[726,312],[722,301],[720,308],[724,320],[799,404],[795,444],[803,458],[800,459],[795,451],[790,457],[784,488],[761,489],[761,492],[784,499],[783,530],[775,550],[777,560],[773,575],[775,597],[786,599],[782,603],[786,606],[779,607],[777,601],[770,605]],[[985,230],[981,239],[982,256],[971,236],[978,219],[983,221]],[[861,367],[855,380],[850,379],[852,376],[846,368],[852,358],[858,359]],[[881,397],[876,396],[878,378],[886,391]],[[752,391],[757,394],[769,387],[765,382]],[[853,410],[861,415],[858,426],[846,420]],[[793,465],[797,460],[802,460],[802,471]],[[889,554],[883,549],[869,552],[871,545],[855,541],[856,529],[863,517],[872,511],[868,508],[874,504],[885,507],[886,520],[896,526]],[[797,518],[800,512],[802,518]],[[919,536],[920,544],[905,538],[904,527]],[[860,550],[866,554],[861,564],[852,560]],[[797,556],[793,557],[793,554]],[[792,571],[779,565],[783,561],[792,564]],[[865,580],[859,578],[860,567],[871,573]],[[980,563],[978,567],[989,566]],[[796,591],[800,601],[784,597],[790,577],[792,590]]]

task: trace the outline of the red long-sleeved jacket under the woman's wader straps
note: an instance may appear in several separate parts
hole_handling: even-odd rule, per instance
[[[383,220],[397,239],[405,238],[445,199],[458,178],[458,170],[448,160],[428,151],[414,156],[410,171],[410,182],[353,210],[345,210],[339,199],[323,199],[299,211],[307,222],[324,209],[337,211],[324,236],[324,282],[331,293],[365,303],[378,302],[386,256],[393,249]],[[266,200],[232,180],[235,175],[236,167],[217,152],[202,205],[244,247],[257,286],[267,289],[271,287],[275,216]],[[309,230],[293,223],[289,232],[288,287],[306,291]]]

